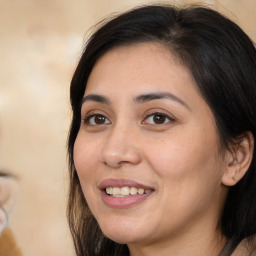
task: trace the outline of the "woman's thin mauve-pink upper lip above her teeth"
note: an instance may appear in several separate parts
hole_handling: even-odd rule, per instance
[[[104,190],[107,187],[117,187],[117,188],[121,188],[121,187],[135,187],[135,188],[143,188],[144,190],[154,190],[154,188],[152,188],[152,187],[143,185],[143,184],[138,183],[138,182],[133,181],[133,180],[114,179],[114,178],[103,180],[102,182],[100,182],[98,188],[100,190]]]

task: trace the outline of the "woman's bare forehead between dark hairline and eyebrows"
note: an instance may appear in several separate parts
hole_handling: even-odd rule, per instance
[[[170,89],[171,84],[178,88],[180,83],[197,88],[190,71],[169,49],[159,43],[140,43],[115,47],[99,58],[89,76],[86,93],[112,87],[144,90],[160,84]]]

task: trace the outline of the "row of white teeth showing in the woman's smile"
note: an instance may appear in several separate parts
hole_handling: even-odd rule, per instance
[[[135,187],[107,187],[106,193],[108,195],[114,196],[114,197],[124,197],[129,195],[136,195],[136,194],[147,194],[150,193],[151,190],[144,190],[143,188],[135,188]]]

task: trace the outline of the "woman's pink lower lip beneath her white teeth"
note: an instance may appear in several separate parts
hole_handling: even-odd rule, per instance
[[[108,195],[105,191],[101,192],[104,203],[113,208],[127,208],[146,200],[153,192],[147,194],[136,194],[126,197],[113,197]]]

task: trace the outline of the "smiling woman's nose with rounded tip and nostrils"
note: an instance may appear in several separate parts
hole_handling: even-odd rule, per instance
[[[101,151],[101,161],[111,168],[140,163],[141,153],[136,141],[136,133],[127,127],[116,126],[108,134]]]

